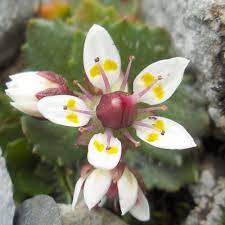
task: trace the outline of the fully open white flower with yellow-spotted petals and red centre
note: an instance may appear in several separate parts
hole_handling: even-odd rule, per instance
[[[83,62],[89,82],[100,89],[102,95],[93,96],[76,83],[84,94],[81,98],[56,95],[38,102],[38,110],[54,123],[72,127],[87,125],[83,128],[86,132],[98,130],[88,144],[88,161],[96,168],[113,169],[119,163],[123,147],[118,137],[123,135],[135,146],[140,145],[129,133],[132,128],[141,140],[155,147],[187,149],[196,146],[183,126],[154,115],[157,110],[165,110],[164,105],[142,108],[139,104],[156,105],[170,98],[181,83],[189,60],[175,57],[147,66],[137,75],[134,93],[129,95],[126,89],[133,59],[129,58],[123,76],[120,55],[112,38],[103,27],[93,25],[85,40]],[[146,119],[137,120],[140,114]],[[91,119],[100,123],[88,124]],[[102,127],[97,129],[96,124]]]

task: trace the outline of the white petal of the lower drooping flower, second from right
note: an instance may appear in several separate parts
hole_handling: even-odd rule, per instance
[[[129,169],[125,168],[122,177],[117,182],[119,202],[122,215],[127,213],[136,203],[138,183]]]

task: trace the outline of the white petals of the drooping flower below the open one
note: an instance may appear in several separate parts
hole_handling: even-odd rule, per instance
[[[114,198],[119,197],[120,209],[122,215],[127,212],[141,221],[150,219],[150,209],[141,187],[134,174],[125,167],[122,176],[117,183],[113,183],[113,177],[109,170],[95,169],[83,177],[80,177],[76,183],[72,208],[75,209],[77,203],[82,198],[91,210],[95,206],[101,206],[108,198],[111,188],[116,185]]]

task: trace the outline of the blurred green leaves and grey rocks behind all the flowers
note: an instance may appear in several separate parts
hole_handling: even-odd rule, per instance
[[[121,217],[111,203],[99,213],[82,208],[74,214],[69,204],[86,162],[86,149],[74,146],[77,130],[20,113],[4,93],[8,76],[21,71],[54,71],[70,87],[82,81],[84,39],[94,23],[111,34],[123,69],[129,55],[136,57],[133,78],[160,59],[191,60],[161,115],[184,125],[198,148],[181,152],[143,144],[126,155],[148,190],[151,220],[145,224],[224,225],[223,0],[0,1],[0,225],[142,224]],[[38,214],[40,202],[46,220]]]

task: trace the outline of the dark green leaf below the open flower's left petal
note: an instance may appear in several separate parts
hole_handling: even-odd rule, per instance
[[[34,145],[34,152],[42,159],[57,164],[71,165],[84,157],[83,148],[75,146],[78,129],[22,117],[22,128],[28,140]]]

